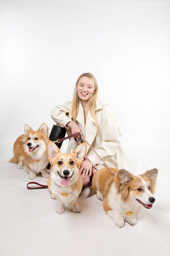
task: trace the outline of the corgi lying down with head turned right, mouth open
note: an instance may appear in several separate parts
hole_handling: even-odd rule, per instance
[[[116,176],[108,168],[100,169],[94,175],[94,193],[103,201],[105,213],[114,220],[116,226],[122,228],[125,222],[133,226],[137,223],[141,207],[152,208],[158,170],[152,169],[134,176],[123,169],[110,169]]]

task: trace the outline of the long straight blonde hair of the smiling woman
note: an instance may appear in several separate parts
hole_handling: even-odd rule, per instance
[[[70,114],[72,115],[73,121],[75,122],[76,117],[78,115],[79,102],[81,101],[80,98],[78,97],[78,94],[77,94],[77,85],[78,85],[79,80],[83,76],[87,76],[88,78],[90,78],[94,82],[95,91],[92,94],[91,98],[89,98],[88,104],[89,104],[89,111],[92,114],[92,117],[93,117],[93,119],[94,119],[94,121],[97,125],[95,110],[96,110],[96,99],[97,99],[97,95],[98,95],[98,85],[97,85],[96,78],[91,73],[83,73],[77,79],[77,82],[76,82],[76,85],[75,85],[75,88],[74,88],[73,101],[72,101],[72,107],[71,107],[71,110],[70,110]]]

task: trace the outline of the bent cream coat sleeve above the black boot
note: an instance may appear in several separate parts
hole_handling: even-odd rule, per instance
[[[66,124],[72,121],[70,115],[69,117],[66,115],[70,112],[71,103],[71,101],[66,101],[63,105],[55,106],[51,110],[51,118],[61,127],[66,127]]]

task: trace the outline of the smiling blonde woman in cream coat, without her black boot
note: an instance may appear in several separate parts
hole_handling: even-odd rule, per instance
[[[109,167],[119,169],[117,152],[126,167],[125,156],[120,144],[121,130],[110,108],[98,98],[98,85],[91,73],[82,74],[74,89],[73,101],[66,101],[51,111],[51,118],[57,126],[64,127],[67,134],[81,132],[94,150]],[[58,138],[56,138],[58,139]],[[76,141],[69,141],[67,153],[74,150]],[[87,159],[81,164],[80,173],[83,186],[90,182],[90,177],[97,169],[105,167],[96,153],[87,145]]]

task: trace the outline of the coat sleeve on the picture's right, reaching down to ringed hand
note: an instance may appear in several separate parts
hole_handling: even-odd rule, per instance
[[[118,151],[119,146],[121,145],[120,136],[121,130],[118,126],[116,118],[114,117],[114,114],[107,105],[104,105],[102,109],[101,136],[98,134],[96,135],[96,139],[98,140],[98,144],[100,144],[100,146],[97,150],[95,150],[104,161],[112,158]],[[99,142],[99,139],[101,142]],[[92,162],[94,167],[103,164],[102,160],[98,158],[96,153],[91,149],[87,155],[87,158]]]

